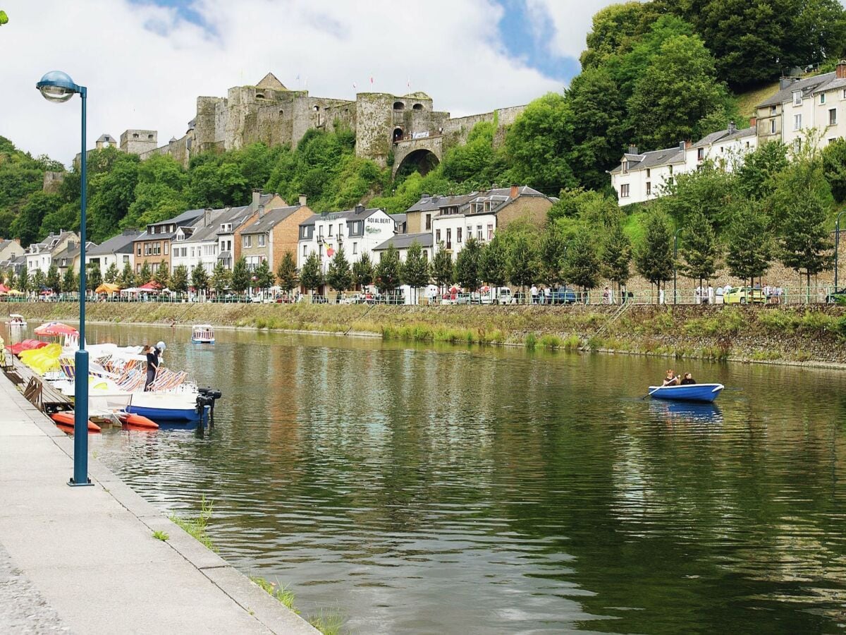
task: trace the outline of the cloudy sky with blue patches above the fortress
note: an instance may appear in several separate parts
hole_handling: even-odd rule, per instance
[[[80,151],[79,98],[36,91],[49,70],[87,86],[89,148],[129,128],[158,130],[163,145],[184,135],[196,97],[268,71],[316,97],[410,86],[453,117],[484,113],[562,91],[592,15],[611,3],[0,0],[0,135],[65,164]]]

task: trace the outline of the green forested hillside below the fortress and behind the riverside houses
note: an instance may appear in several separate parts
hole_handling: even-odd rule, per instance
[[[530,103],[502,136],[479,124],[465,146],[445,152],[429,174],[399,174],[354,155],[354,135],[311,130],[295,150],[256,145],[194,157],[114,149],[91,152],[90,235],[101,241],[184,209],[247,202],[252,188],[288,201],[303,193],[317,210],[362,200],[398,213],[421,193],[493,184],[531,185],[558,196],[585,188],[612,195],[608,168],[624,148],[674,146],[744,124],[736,91],[763,86],[794,66],[832,69],[846,46],[838,0],[652,0],[603,8],[593,19],[582,72],[562,94]],[[748,107],[748,105],[747,105]],[[745,108],[744,108],[745,109]],[[747,111],[748,114],[748,111]],[[0,235],[24,245],[49,231],[76,229],[80,182],[71,171],[55,194],[41,192],[58,169],[0,138]]]

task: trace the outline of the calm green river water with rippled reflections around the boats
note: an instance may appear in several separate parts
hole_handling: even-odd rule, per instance
[[[195,433],[93,450],[162,510],[214,500],[244,572],[351,632],[835,632],[846,374],[674,363],[719,406],[640,400],[665,360],[219,330],[168,342],[224,392]]]

